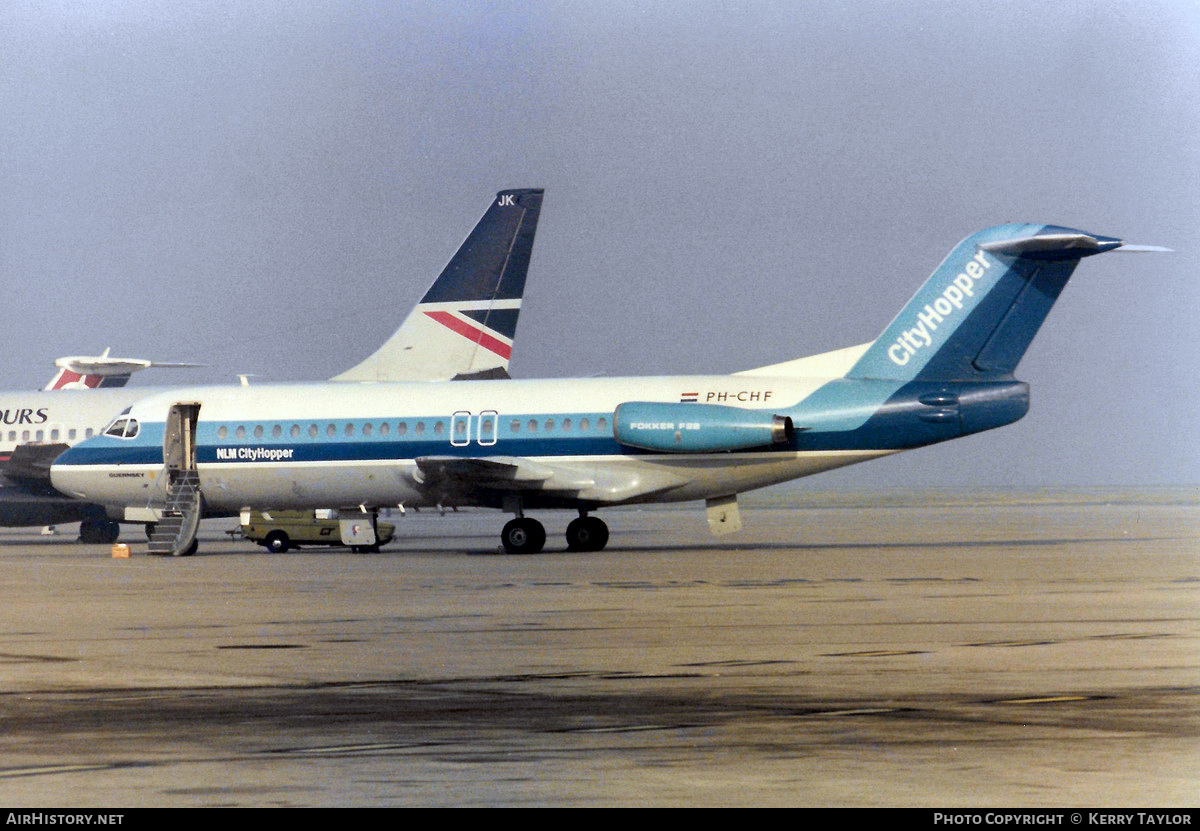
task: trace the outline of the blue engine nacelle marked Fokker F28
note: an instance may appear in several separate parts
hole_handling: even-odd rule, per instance
[[[628,401],[612,417],[612,431],[626,447],[659,453],[720,453],[786,444],[792,419],[769,409],[712,403]]]

